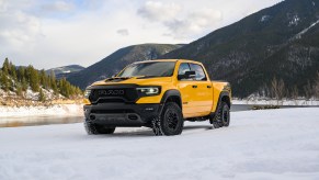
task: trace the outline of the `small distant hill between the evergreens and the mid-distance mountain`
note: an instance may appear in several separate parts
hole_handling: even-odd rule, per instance
[[[61,66],[61,67],[57,67],[57,68],[47,69],[45,72],[47,75],[50,75],[50,72],[54,71],[56,78],[60,79],[62,77],[66,77],[69,74],[78,72],[78,71],[83,70],[83,69],[84,69],[84,67],[82,67],[80,65],[69,65],[69,66]]]

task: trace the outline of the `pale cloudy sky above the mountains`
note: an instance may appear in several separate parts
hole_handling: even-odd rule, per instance
[[[90,66],[134,44],[180,44],[282,0],[0,0],[0,63]]]

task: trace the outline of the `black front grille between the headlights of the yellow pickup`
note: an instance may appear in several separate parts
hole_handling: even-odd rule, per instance
[[[92,103],[135,102],[138,98],[135,88],[92,89],[89,100]]]

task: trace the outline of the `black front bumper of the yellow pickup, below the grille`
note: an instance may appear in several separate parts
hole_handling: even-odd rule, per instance
[[[150,126],[162,104],[99,103],[84,105],[86,121],[107,126]]]

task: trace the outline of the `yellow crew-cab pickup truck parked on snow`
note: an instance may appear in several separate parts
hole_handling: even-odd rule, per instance
[[[184,121],[229,126],[231,89],[210,81],[194,60],[137,61],[86,89],[88,134],[113,134],[116,127],[151,127],[156,135],[179,135]]]

